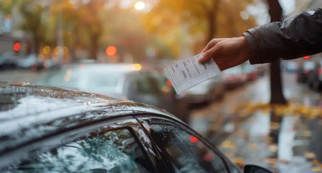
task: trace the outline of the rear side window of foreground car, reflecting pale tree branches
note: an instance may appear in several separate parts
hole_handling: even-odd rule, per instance
[[[12,165],[19,173],[148,173],[154,172],[127,128],[93,131],[75,141]]]

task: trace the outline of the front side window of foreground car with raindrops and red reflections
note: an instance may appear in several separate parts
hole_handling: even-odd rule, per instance
[[[150,124],[151,136],[180,173],[231,173],[222,157],[196,136],[175,125]],[[232,168],[233,172],[238,172]]]

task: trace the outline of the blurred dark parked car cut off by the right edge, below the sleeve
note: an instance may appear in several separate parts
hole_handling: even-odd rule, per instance
[[[308,87],[313,91],[319,91],[322,86],[322,61],[316,60],[314,69],[308,73]]]

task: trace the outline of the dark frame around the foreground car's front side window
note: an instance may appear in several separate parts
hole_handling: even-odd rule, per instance
[[[144,131],[147,133],[147,135],[150,138],[150,141],[153,141],[153,144],[155,146],[155,148],[157,148],[158,152],[162,154],[162,158],[165,161],[165,163],[168,163],[167,166],[169,167],[169,169],[171,169],[172,171],[174,171],[176,168],[174,166],[174,163],[172,163],[171,160],[167,159],[166,155],[161,151],[161,149],[157,146],[157,144],[154,142],[154,140],[152,139],[150,133],[149,133],[149,129],[151,129],[150,127],[150,123],[152,124],[166,124],[166,125],[174,125],[178,128],[180,128],[181,130],[194,135],[195,137],[198,138],[198,140],[200,140],[202,143],[204,143],[207,147],[209,147],[215,154],[217,154],[218,157],[220,157],[223,161],[223,163],[225,164],[225,168],[228,172],[232,172],[232,170],[230,169],[231,167],[233,167],[236,170],[240,170],[234,163],[232,163],[232,161],[227,158],[218,148],[216,148],[215,146],[213,146],[210,142],[208,142],[201,134],[199,134],[198,132],[194,131],[192,128],[190,128],[188,125],[181,123],[179,121],[177,121],[174,118],[171,117],[165,117],[165,116],[158,116],[156,114],[145,114],[145,115],[134,115],[133,117],[135,117],[137,119],[137,121],[142,125],[142,128],[144,129]],[[154,122],[153,119],[160,119],[160,120],[164,120],[163,122]],[[151,121],[152,120],[152,121]],[[167,121],[167,122],[165,122]],[[187,130],[188,129],[188,130]],[[171,163],[171,164],[169,164]],[[229,167],[229,165],[231,165]]]

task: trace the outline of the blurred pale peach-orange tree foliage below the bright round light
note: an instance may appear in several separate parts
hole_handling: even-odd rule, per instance
[[[146,60],[145,51],[151,42],[150,35],[140,24],[140,13],[133,9],[121,9],[118,5],[105,10],[102,14],[103,29],[101,44],[104,49],[114,45],[119,57],[132,55],[134,61]],[[117,15],[118,17],[114,17]],[[122,61],[122,58],[120,59]]]

